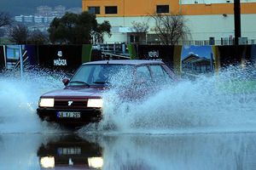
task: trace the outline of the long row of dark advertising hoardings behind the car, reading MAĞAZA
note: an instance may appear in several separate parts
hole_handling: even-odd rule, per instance
[[[105,46],[104,46],[105,47]],[[212,74],[230,65],[255,65],[256,45],[195,46],[195,45],[132,45],[123,48],[124,59],[162,60],[180,77]],[[55,71],[75,71],[84,62],[106,59],[103,46],[92,48],[82,45],[22,45],[26,66],[38,66]],[[115,54],[117,49],[108,50]],[[119,54],[121,56],[122,54]],[[19,65],[19,45],[0,48],[0,69],[13,69]],[[119,57],[119,59],[123,59]],[[27,68],[27,67],[26,67]]]

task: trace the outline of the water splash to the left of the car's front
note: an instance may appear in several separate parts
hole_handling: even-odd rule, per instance
[[[0,133],[55,132],[54,123],[41,122],[36,114],[40,95],[62,88],[61,75],[27,71],[21,78],[14,72],[0,76]]]

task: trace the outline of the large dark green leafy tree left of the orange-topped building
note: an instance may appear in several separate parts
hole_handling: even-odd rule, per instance
[[[49,26],[50,42],[92,43],[93,37],[98,41],[104,33],[110,33],[108,21],[98,25],[96,15],[85,11],[81,14],[66,13],[61,19],[55,18]]]

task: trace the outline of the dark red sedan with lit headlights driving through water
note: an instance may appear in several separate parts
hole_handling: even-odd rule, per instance
[[[177,81],[162,61],[116,59],[79,66],[65,88],[40,96],[37,113],[43,121],[84,125],[102,120],[102,94],[119,88],[120,101],[143,99],[150,92]]]

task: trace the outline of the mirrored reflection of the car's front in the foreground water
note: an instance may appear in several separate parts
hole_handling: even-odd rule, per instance
[[[77,134],[53,135],[38,148],[42,169],[99,169],[103,165],[102,146]]]

